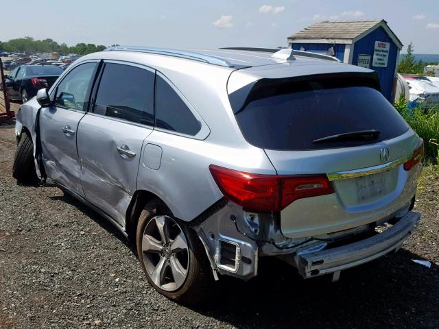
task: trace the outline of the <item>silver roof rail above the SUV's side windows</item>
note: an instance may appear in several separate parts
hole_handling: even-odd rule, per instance
[[[204,62],[204,63],[208,63],[208,64],[213,64],[213,65],[233,67],[232,64],[230,64],[226,60],[222,60],[221,58],[217,58],[215,56],[203,55],[201,53],[193,53],[192,51],[166,49],[166,48],[138,47],[138,46],[108,47],[104,51],[112,51],[112,50],[126,50],[126,51],[139,51],[139,52],[143,52],[143,53],[156,53],[159,55],[186,58],[188,60],[197,60],[198,62]]]

